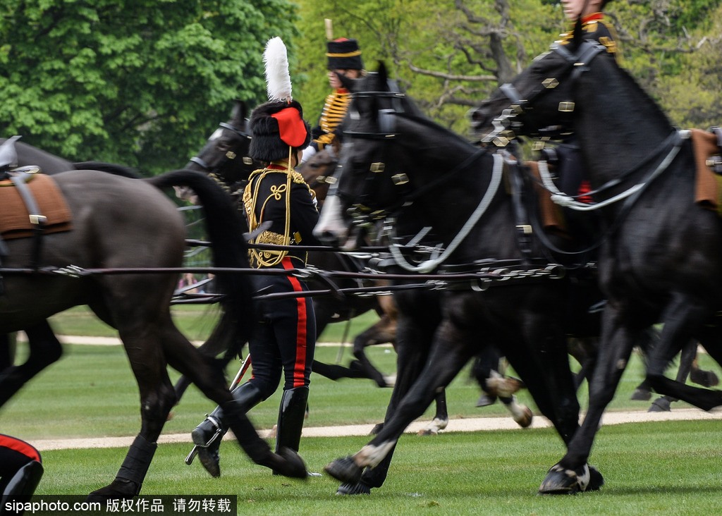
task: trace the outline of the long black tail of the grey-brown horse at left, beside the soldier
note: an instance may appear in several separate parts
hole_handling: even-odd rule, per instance
[[[243,232],[248,231],[248,226],[230,196],[214,180],[193,170],[173,170],[144,181],[157,188],[192,188],[199,204],[204,207],[214,266],[249,268],[248,245],[243,239]],[[216,281],[219,293],[225,294],[221,301],[223,313],[219,325],[202,347],[214,356],[225,349],[227,363],[240,354],[253,330],[256,320],[253,287],[251,279],[245,274],[219,273]]]

